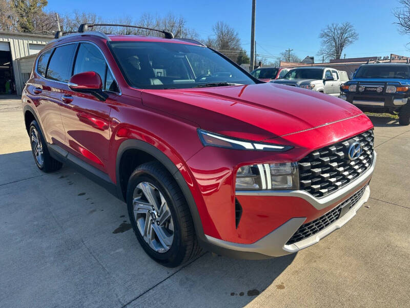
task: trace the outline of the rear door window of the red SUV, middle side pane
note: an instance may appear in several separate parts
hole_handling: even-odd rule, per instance
[[[71,77],[71,60],[74,55],[75,46],[76,44],[69,44],[55,49],[48,65],[46,78],[68,82]]]

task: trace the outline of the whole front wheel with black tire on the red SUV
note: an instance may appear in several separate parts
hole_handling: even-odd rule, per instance
[[[156,262],[176,267],[200,254],[187,201],[160,163],[144,163],[134,170],[128,181],[127,206],[138,242]]]

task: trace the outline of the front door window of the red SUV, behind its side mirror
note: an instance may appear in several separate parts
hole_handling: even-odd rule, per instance
[[[92,44],[81,43],[74,64],[74,75],[88,71],[99,74],[104,90],[119,92],[101,51]]]

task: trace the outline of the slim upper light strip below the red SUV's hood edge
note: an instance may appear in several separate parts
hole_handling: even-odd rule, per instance
[[[198,128],[199,139],[204,146],[216,146],[236,150],[253,150],[253,151],[273,151],[284,152],[293,146],[281,145],[274,143],[254,142],[243,139],[236,139],[228,136],[222,136],[218,133],[209,132]]]

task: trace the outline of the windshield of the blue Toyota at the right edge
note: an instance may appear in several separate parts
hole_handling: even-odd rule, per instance
[[[359,67],[355,78],[409,79],[410,73],[407,65],[368,65]]]

